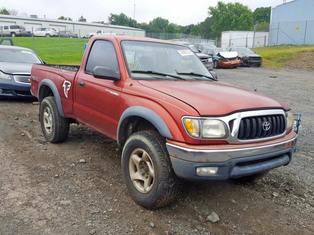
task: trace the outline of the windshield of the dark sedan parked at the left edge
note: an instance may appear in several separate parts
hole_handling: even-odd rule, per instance
[[[34,52],[12,48],[0,48],[0,62],[41,64]]]

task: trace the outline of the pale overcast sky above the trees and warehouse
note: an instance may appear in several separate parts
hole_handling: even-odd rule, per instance
[[[283,3],[283,0],[223,1],[238,1],[248,5],[252,10],[257,7],[274,7]],[[203,21],[208,16],[208,7],[215,6],[216,3],[217,0],[6,0],[0,3],[0,8],[16,9],[19,14],[25,12],[27,15],[38,15],[40,18],[46,15],[46,18],[57,19],[62,15],[77,20],[83,15],[88,22],[107,22],[111,12],[114,14],[123,12],[133,17],[135,4],[135,20],[139,23],[149,23],[155,17],[161,16],[171,23],[187,25]]]

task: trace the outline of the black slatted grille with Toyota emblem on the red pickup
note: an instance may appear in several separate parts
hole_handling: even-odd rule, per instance
[[[267,122],[269,122],[268,130]],[[286,117],[283,115],[248,117],[241,119],[237,138],[239,140],[267,138],[281,135],[285,130]]]

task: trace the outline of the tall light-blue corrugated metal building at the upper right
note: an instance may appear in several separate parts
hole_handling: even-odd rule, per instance
[[[293,0],[271,9],[269,46],[314,45],[314,0]]]

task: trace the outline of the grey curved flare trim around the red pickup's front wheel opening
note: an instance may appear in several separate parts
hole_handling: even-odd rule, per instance
[[[155,111],[148,109],[146,107],[143,107],[143,106],[131,106],[123,112],[119,120],[118,130],[117,130],[117,141],[118,141],[119,146],[121,146],[121,143],[123,141],[122,140],[123,136],[121,136],[123,134],[123,130],[122,130],[123,122],[127,118],[130,118],[132,116],[145,118],[156,127],[160,135],[168,139],[173,139],[167,124]]]

